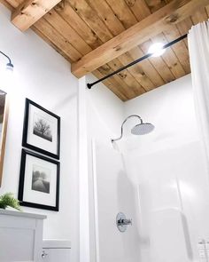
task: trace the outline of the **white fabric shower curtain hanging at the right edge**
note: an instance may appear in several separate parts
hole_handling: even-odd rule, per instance
[[[197,121],[209,161],[209,21],[190,29],[189,52]]]

